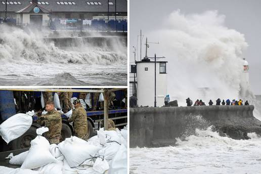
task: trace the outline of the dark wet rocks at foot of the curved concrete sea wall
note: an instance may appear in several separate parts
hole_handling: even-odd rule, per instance
[[[219,134],[222,137],[230,137],[235,140],[248,140],[247,129],[244,126],[225,125],[218,127]]]

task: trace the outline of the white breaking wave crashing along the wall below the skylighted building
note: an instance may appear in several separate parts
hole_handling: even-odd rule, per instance
[[[95,42],[86,42],[87,39],[69,36],[72,45],[59,48],[54,40],[46,39],[45,35],[38,32],[26,32],[7,26],[1,26],[0,30],[0,60],[4,64],[36,62],[120,65],[127,61],[126,44],[122,43],[121,37],[112,37],[113,41],[107,37],[107,41],[95,45]]]

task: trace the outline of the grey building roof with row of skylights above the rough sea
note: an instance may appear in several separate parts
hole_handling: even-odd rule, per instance
[[[5,12],[6,9],[5,2],[6,2],[5,0],[0,0],[0,12]],[[30,0],[13,0],[13,1],[8,0],[8,2],[10,3],[12,2],[12,5],[10,3],[9,5],[7,5],[8,12],[20,11],[21,9],[24,9],[26,6],[30,4],[29,3]],[[58,5],[57,2],[59,2],[58,4],[60,5]],[[90,5],[88,5],[87,2]],[[109,5],[109,12],[115,12],[115,0],[109,0],[109,2],[110,4],[112,4]],[[52,12],[107,12],[108,11],[108,0],[68,0],[68,1],[67,0],[40,0],[38,1],[38,3],[40,3],[39,5],[42,8]],[[116,10],[117,12],[127,12],[127,0],[116,0]]]

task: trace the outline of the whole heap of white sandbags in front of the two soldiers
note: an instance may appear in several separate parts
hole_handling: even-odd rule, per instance
[[[10,164],[21,165],[11,169],[0,167],[0,173],[42,174],[99,174],[127,173],[127,129],[98,131],[88,141],[77,137],[51,144],[41,134],[46,127],[37,129],[37,137],[31,141],[28,151],[13,156]]]

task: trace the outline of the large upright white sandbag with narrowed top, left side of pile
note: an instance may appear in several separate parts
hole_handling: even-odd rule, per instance
[[[56,159],[49,151],[50,144],[45,137],[37,136],[31,141],[31,147],[21,168],[38,168],[48,163],[55,162]]]

